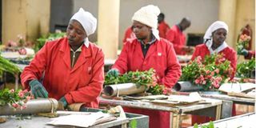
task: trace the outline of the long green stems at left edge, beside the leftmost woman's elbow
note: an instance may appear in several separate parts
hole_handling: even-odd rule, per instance
[[[9,72],[10,74],[18,74],[22,70],[18,68],[13,62],[10,62],[6,58],[0,56],[0,75],[3,71]]]

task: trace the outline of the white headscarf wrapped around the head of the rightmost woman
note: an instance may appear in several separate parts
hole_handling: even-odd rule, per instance
[[[206,46],[207,46],[208,50],[210,50],[210,54],[218,53],[218,52],[222,51],[223,49],[225,49],[227,47],[227,44],[224,41],[222,43],[222,45],[218,46],[218,48],[216,50],[212,50],[212,48],[211,48],[211,46],[213,44],[212,33],[215,30],[218,30],[218,29],[225,29],[226,30],[226,34],[229,31],[229,27],[226,25],[225,22],[217,21],[217,22],[214,22],[213,24],[211,24],[208,27],[208,29],[206,30],[206,34],[203,36],[204,42],[206,42]]]

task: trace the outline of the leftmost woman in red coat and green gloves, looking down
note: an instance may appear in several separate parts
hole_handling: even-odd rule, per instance
[[[22,86],[35,98],[55,98],[66,107],[98,107],[104,82],[104,54],[89,42],[97,19],[80,8],[70,19],[66,38],[46,42],[21,74]]]

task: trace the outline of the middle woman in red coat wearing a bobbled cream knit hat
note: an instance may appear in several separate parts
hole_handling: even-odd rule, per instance
[[[134,13],[133,32],[136,38],[122,48],[117,61],[108,74],[125,74],[128,71],[154,68],[158,83],[168,88],[174,86],[181,75],[173,45],[158,35],[158,6],[144,6]],[[124,108],[126,112],[145,114],[150,117],[150,128],[170,127],[170,113],[157,110]]]

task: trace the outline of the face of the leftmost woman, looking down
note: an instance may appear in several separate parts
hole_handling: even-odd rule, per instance
[[[78,21],[71,20],[66,28],[66,37],[69,40],[70,46],[81,46],[87,35]]]

